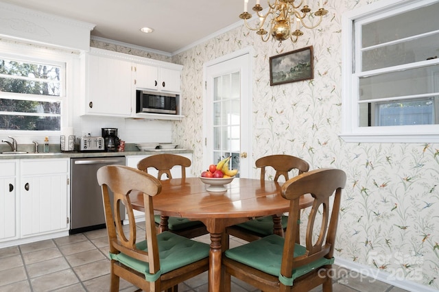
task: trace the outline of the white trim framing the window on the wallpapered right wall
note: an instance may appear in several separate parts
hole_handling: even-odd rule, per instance
[[[358,79],[353,78],[353,23],[366,17],[372,19],[378,12],[392,12],[404,8],[429,5],[438,0],[383,0],[356,10],[342,17],[342,132],[348,143],[439,143],[439,125],[404,125],[390,127],[359,127],[357,101]],[[439,63],[439,59],[436,60]],[[430,62],[429,64],[435,64]],[[355,122],[354,122],[355,121]]]

